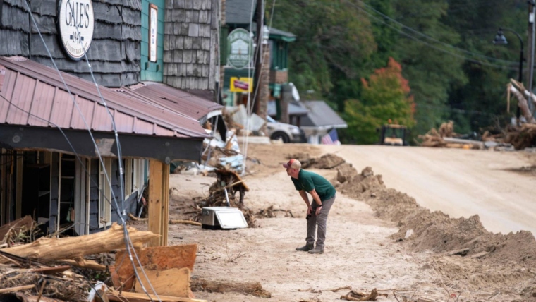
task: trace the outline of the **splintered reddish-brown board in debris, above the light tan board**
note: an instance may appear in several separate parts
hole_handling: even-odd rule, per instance
[[[136,254],[142,267],[149,270],[169,270],[171,268],[183,268],[193,271],[197,244],[185,244],[182,246],[154,246],[150,248],[136,249]],[[133,287],[135,279],[134,268],[128,258],[126,250],[116,253],[117,278],[112,278],[114,287],[123,285],[123,290],[129,291]],[[138,263],[136,263],[138,267]]]

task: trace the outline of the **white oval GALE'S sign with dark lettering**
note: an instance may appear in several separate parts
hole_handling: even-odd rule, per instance
[[[61,0],[59,3],[59,33],[61,43],[71,59],[81,59],[93,40],[95,18],[91,0]]]

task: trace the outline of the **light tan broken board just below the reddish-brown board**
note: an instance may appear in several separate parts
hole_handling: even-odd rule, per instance
[[[161,271],[145,270],[145,275],[147,275],[150,284],[147,282],[142,270],[139,267],[137,270],[141,283],[149,294],[152,294],[152,289],[154,289],[154,292],[158,295],[181,298],[188,298],[190,296],[190,269],[188,267]],[[135,291],[140,294],[145,293],[139,282],[136,283]]]

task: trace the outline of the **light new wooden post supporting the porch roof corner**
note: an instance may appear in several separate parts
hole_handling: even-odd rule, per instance
[[[161,235],[149,246],[167,246],[169,220],[169,164],[149,161],[149,231]]]

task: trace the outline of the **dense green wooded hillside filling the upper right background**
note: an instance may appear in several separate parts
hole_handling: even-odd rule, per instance
[[[336,104],[349,126],[342,141],[373,143],[375,127],[391,114],[374,99],[392,96],[360,78],[389,57],[411,87],[413,135],[448,120],[458,133],[507,123],[516,103],[506,112],[505,85],[518,78],[520,42],[508,31],[507,45],[492,40],[499,27],[515,30],[527,58],[527,8],[522,0],[278,0],[273,25],[297,36],[289,79],[300,92],[315,91],[303,97]],[[391,90],[391,83],[377,85]]]

